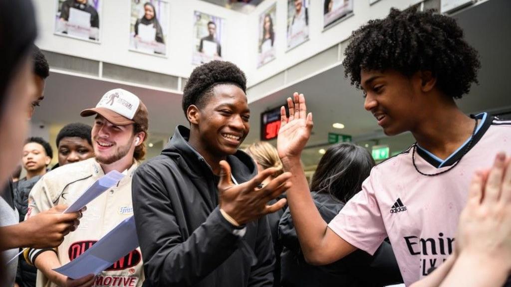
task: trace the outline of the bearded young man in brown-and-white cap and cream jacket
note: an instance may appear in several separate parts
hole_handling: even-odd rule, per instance
[[[144,273],[138,248],[96,278],[88,275],[73,280],[53,271],[78,257],[121,221],[132,216],[131,177],[137,161],[145,155],[148,113],[136,95],[123,89],[110,90],[96,108],[83,110],[81,115],[96,115],[91,134],[95,158],[64,165],[45,174],[30,193],[27,217],[55,204],[73,203],[87,187],[110,171],[124,172],[126,176],[117,186],[87,205],[80,228],[64,237],[56,250],[30,249],[26,258],[38,269],[38,287],[141,286]]]

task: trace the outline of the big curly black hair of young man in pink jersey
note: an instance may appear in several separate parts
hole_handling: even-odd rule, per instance
[[[479,55],[463,39],[455,19],[434,12],[392,8],[386,18],[354,31],[342,63],[351,84],[360,88],[362,69],[393,69],[408,77],[431,71],[449,97],[468,93],[472,82],[478,84]]]

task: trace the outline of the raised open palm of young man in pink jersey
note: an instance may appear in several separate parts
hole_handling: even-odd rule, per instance
[[[312,113],[307,114],[304,94],[293,94],[288,98],[289,118],[286,109],[281,107],[281,128],[277,136],[278,156],[285,164],[286,159],[300,158],[312,130]]]

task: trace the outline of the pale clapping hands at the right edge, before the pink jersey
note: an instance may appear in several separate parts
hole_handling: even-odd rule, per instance
[[[503,153],[490,171],[478,172],[472,180],[460,214],[456,254],[511,271],[511,161]]]

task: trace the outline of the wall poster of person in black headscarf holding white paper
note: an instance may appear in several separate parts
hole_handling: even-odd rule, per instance
[[[165,56],[168,27],[169,4],[166,0],[131,0],[131,51]]]

